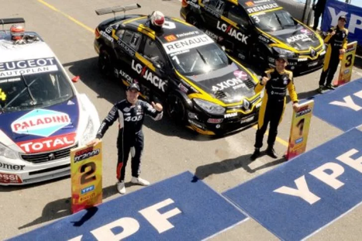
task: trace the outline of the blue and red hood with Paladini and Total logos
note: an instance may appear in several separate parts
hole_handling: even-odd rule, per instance
[[[0,130],[7,137],[5,143],[1,142],[10,148],[16,145],[24,153],[48,152],[72,146],[79,112],[79,102],[75,96],[44,108],[1,113]]]

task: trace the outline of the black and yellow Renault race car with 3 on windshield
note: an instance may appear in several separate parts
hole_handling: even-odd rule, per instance
[[[182,0],[180,14],[238,60],[274,68],[283,54],[299,75],[322,67],[322,38],[273,0]]]

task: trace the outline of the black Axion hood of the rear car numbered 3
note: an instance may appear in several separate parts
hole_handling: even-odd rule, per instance
[[[316,33],[300,24],[295,28],[286,28],[270,34],[297,51],[309,50],[309,47],[317,48],[322,43]]]

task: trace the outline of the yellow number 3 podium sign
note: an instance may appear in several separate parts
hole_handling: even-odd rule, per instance
[[[338,79],[334,81],[334,85],[342,85],[351,81],[352,69],[355,63],[357,50],[357,41],[348,43],[346,53],[341,61],[340,73]]]

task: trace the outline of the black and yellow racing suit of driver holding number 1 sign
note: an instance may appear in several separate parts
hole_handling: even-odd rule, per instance
[[[286,89],[288,89],[293,103],[299,101],[295,92],[292,72],[285,70],[278,73],[275,69],[272,69],[266,71],[263,77],[268,77],[270,80],[265,86],[262,106],[259,110],[258,130],[254,147],[260,149],[263,146],[263,137],[270,122],[268,148],[272,149],[277,136],[277,128],[285,109]],[[259,93],[263,87],[262,81],[259,81],[255,86],[255,92]]]

